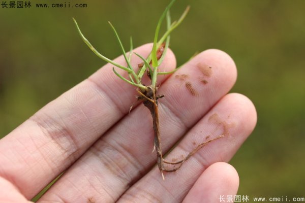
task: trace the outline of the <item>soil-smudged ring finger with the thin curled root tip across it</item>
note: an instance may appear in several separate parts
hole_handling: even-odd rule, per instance
[[[122,197],[126,202],[180,202],[192,185],[209,165],[228,162],[246,140],[256,124],[256,112],[252,102],[240,94],[228,94],[212,108],[166,157],[175,161],[186,157],[198,144],[223,135],[197,151],[174,173],[160,172],[154,167],[145,177],[130,188]],[[149,185],[149,187],[148,187]],[[147,201],[143,201],[147,196]],[[154,200],[152,200],[154,198]]]

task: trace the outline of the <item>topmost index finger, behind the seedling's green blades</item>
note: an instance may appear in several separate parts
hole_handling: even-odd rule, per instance
[[[147,56],[152,46],[141,46],[135,52]],[[171,70],[175,58],[171,51],[167,53],[161,69]],[[124,57],[115,61],[124,64]],[[133,55],[133,67],[140,62]],[[135,89],[106,64],[0,141],[0,176],[14,183],[27,198],[33,197],[129,112],[136,101]]]

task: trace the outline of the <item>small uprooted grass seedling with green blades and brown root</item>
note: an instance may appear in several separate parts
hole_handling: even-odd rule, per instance
[[[109,58],[105,57],[104,55],[100,54],[93,46],[90,44],[90,42],[83,36],[82,32],[80,31],[80,28],[76,22],[76,20],[73,18],[74,23],[78,29],[79,35],[81,36],[82,40],[86,43],[86,45],[101,59],[107,61],[108,63],[111,63],[112,65],[118,67],[119,69],[122,69],[128,73],[129,79],[121,76],[118,72],[115,71],[113,67],[113,72],[117,77],[119,77],[121,80],[127,82],[130,85],[134,85],[137,87],[137,92],[139,94],[138,100],[142,100],[143,104],[145,107],[147,107],[151,113],[151,116],[153,117],[153,129],[155,132],[155,138],[154,138],[154,150],[157,152],[157,164],[159,167],[159,170],[161,172],[162,178],[164,179],[163,172],[174,172],[177,171],[181,165],[188,160],[196,151],[201,149],[203,146],[205,146],[207,143],[216,140],[218,138],[221,138],[223,136],[219,136],[215,139],[209,140],[207,142],[204,142],[200,145],[198,145],[192,152],[189,153],[188,156],[186,156],[184,159],[177,161],[177,162],[169,162],[163,159],[163,154],[162,154],[162,147],[161,147],[161,137],[160,137],[160,130],[159,130],[159,113],[158,113],[158,99],[163,97],[164,95],[157,95],[158,87],[156,86],[157,84],[157,76],[158,75],[166,75],[166,74],[172,74],[175,71],[179,69],[177,67],[173,71],[170,72],[158,72],[158,67],[162,63],[168,46],[169,46],[169,41],[170,41],[170,33],[185,19],[187,16],[190,7],[187,7],[184,13],[182,13],[181,17],[177,20],[174,21],[173,23],[171,22],[170,18],[170,13],[169,9],[173,5],[175,0],[172,0],[169,5],[166,7],[164,12],[162,13],[158,24],[157,28],[155,31],[155,37],[154,37],[154,45],[153,45],[153,50],[151,50],[150,54],[148,55],[147,58],[144,58],[138,53],[133,52],[133,45],[132,45],[132,38],[130,39],[130,52],[129,56],[127,56],[127,53],[125,51],[125,48],[123,44],[120,41],[120,38],[117,34],[117,31],[115,30],[114,26],[109,22],[112,30],[114,31],[115,37],[118,41],[119,47],[121,51],[123,52],[124,58],[126,60],[127,66],[118,64]],[[159,31],[161,28],[161,24],[166,18],[166,24],[167,24],[167,29],[164,33],[164,35],[158,40],[159,36]],[[135,68],[131,66],[131,55],[135,54],[141,60],[143,61],[142,63],[138,64],[139,71],[135,72]],[[181,66],[180,66],[181,67]],[[144,74],[147,74],[148,77],[150,78],[150,84],[149,85],[144,85],[142,84],[142,78]],[[174,167],[172,169],[169,169],[166,167],[166,164],[172,164],[172,165],[178,165],[177,167]]]

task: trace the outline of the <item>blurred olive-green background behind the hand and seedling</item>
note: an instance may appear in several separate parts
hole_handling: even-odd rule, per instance
[[[71,1],[87,8],[3,9],[0,6],[0,138],[50,100],[105,64],[81,41],[75,17],[90,42],[109,58],[120,50],[107,21],[123,43],[151,42],[169,1]],[[240,176],[238,194],[305,196],[305,1],[177,1],[173,32],[178,64],[196,51],[224,50],[238,79],[232,92],[252,99],[256,129],[230,162]],[[143,26],[145,25],[145,26]]]

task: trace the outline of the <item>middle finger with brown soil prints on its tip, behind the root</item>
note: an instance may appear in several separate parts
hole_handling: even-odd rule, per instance
[[[222,51],[207,50],[161,85],[159,93],[165,95],[159,100],[164,153],[230,90],[235,79],[233,60]],[[188,82],[195,95],[187,89]],[[156,163],[156,154],[151,153],[153,139],[150,113],[141,105],[95,143],[42,197],[42,202],[84,202],[89,198],[115,201]]]

